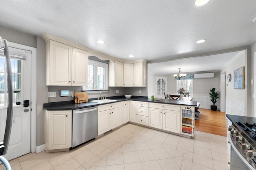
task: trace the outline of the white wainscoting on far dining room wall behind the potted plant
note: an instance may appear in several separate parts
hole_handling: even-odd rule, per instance
[[[212,102],[210,100],[210,95],[205,95],[205,94],[194,94],[193,95],[193,101],[199,102],[200,106],[199,108],[203,109],[211,109]],[[216,106],[218,109],[220,109],[220,98],[218,98],[218,102],[216,103]]]

